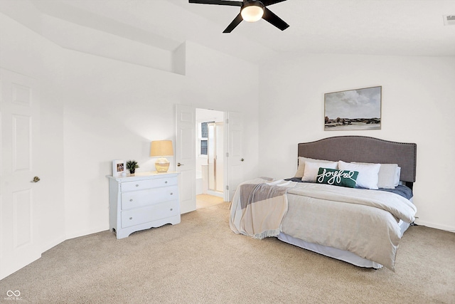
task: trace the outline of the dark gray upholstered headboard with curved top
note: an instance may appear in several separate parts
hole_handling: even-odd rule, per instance
[[[336,136],[300,143],[299,157],[398,164],[401,167],[400,179],[411,189],[415,182],[417,145],[413,143],[390,142],[367,136]]]

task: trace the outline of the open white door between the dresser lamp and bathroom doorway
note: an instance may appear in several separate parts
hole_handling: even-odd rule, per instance
[[[196,210],[196,108],[176,105],[176,169],[180,211]]]

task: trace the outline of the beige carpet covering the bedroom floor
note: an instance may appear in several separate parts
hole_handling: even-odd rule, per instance
[[[411,226],[394,273],[234,234],[228,216],[222,203],[126,239],[64,241],[0,281],[0,303],[455,303],[453,233]]]

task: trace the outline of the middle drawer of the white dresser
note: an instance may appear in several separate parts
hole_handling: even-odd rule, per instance
[[[122,192],[122,210],[178,199],[178,187],[161,187]]]

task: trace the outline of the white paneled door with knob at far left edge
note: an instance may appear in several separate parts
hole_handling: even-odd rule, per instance
[[[0,68],[0,279],[41,257],[36,164],[39,90],[33,78]]]

